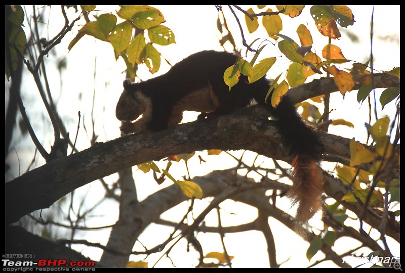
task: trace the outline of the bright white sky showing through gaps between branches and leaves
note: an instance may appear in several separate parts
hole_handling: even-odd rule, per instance
[[[188,55],[207,49],[214,49],[221,51],[218,42],[219,32],[217,30],[216,20],[217,20],[217,10],[214,6],[154,6],[158,8],[161,13],[165,16],[165,25],[172,29],[175,34],[176,44],[171,44],[167,47],[156,47],[158,51],[165,57],[171,64],[175,64]],[[236,44],[241,48],[240,32],[236,25],[236,22],[229,12],[227,7],[224,8],[225,17],[227,19],[227,24],[231,29],[233,37]],[[241,8],[247,10],[249,7],[241,6]],[[271,7],[275,10],[274,7]],[[366,62],[370,56],[370,20],[372,15],[372,6],[349,6],[351,8],[355,23],[353,26],[347,28],[347,30],[342,30],[342,37],[338,41],[333,41],[334,44],[338,45],[344,54],[344,56],[353,61]],[[97,6],[97,10],[100,10],[100,14],[109,11],[118,10],[115,6]],[[255,11],[259,11],[256,9]],[[69,19],[73,20],[77,15],[73,14],[73,9],[69,9]],[[241,23],[244,23],[244,17],[240,12],[235,10],[235,13],[241,18]],[[54,6],[51,8],[48,33],[44,32],[45,37],[53,37],[55,33],[59,32],[61,29],[61,23],[59,21],[60,7]],[[315,26],[314,21],[310,18],[309,8],[303,10],[303,14],[298,18],[291,19],[286,16],[282,16],[283,20],[283,31],[282,34],[290,36],[295,41],[299,41],[296,34],[296,29],[299,24],[307,24],[310,29],[315,48],[314,50],[321,55],[320,51],[327,44],[328,39],[321,36]],[[83,21],[82,21],[83,23]],[[50,86],[54,100],[58,102],[58,111],[64,121],[66,122],[67,130],[70,132],[70,136],[75,134],[77,126],[77,112],[82,113],[82,119],[86,124],[86,128],[89,130],[91,128],[91,110],[92,110],[92,100],[93,91],[96,90],[95,106],[94,106],[94,119],[96,133],[99,135],[98,142],[105,142],[119,137],[119,125],[120,122],[115,118],[115,105],[118,97],[122,91],[122,82],[125,78],[123,71],[125,70],[124,62],[119,59],[115,61],[113,56],[113,51],[111,45],[106,42],[96,41],[93,37],[85,36],[83,37],[74,47],[68,52],[67,45],[71,39],[76,35],[77,30],[80,26],[74,27],[72,31],[66,35],[62,42],[57,47],[57,58],[61,59],[66,57],[67,69],[63,71],[62,78],[60,78],[58,73],[52,73],[53,70],[56,71],[56,61],[55,56],[50,53],[49,60],[47,60],[47,70],[49,73]],[[359,42],[351,43],[346,38],[346,33],[350,32],[358,36]],[[260,29],[253,34],[248,34],[247,29],[244,29],[245,37],[248,43],[252,42],[257,37],[267,37],[267,33],[264,29]],[[386,37],[386,39],[383,39]],[[374,68],[377,71],[391,70],[394,67],[399,66],[399,6],[376,6],[374,9]],[[242,49],[242,53],[245,53],[245,49]],[[274,78],[280,72],[286,71],[290,62],[286,58],[282,58],[277,52],[277,47],[268,45],[266,50],[263,51],[262,58],[276,56],[278,61],[276,66],[272,68],[268,76]],[[164,61],[161,62],[160,70],[156,75],[163,74],[170,69]],[[347,68],[351,66],[349,63]],[[154,77],[147,72],[147,69],[140,68],[139,75],[143,79]],[[6,82],[6,90],[7,90]],[[37,109],[43,108],[41,99],[37,94],[36,88],[32,88],[33,80],[30,75],[25,73],[24,78],[24,88],[23,88],[23,100],[25,107],[28,112],[28,116],[32,117],[32,125],[39,135],[39,139],[42,140],[46,145],[46,149],[49,151],[50,145],[53,143],[52,127],[50,125],[49,119],[46,117],[44,112],[38,113]],[[365,127],[363,123],[368,120],[368,107],[367,105],[360,106],[356,102],[356,92],[351,92],[346,94],[343,100],[340,94],[333,94],[331,97],[332,106],[336,111],[332,112],[331,118],[344,118],[350,120],[354,123],[355,129],[343,128],[343,126],[332,126],[330,129],[331,133],[339,134],[347,138],[352,138],[355,136],[356,140],[365,141]],[[378,96],[378,95],[377,95]],[[6,102],[8,100],[8,95],[6,93]],[[7,107],[7,104],[6,104]],[[380,107],[380,106],[379,106]],[[393,103],[387,105],[384,111],[379,112],[380,117],[384,114],[392,116],[394,113]],[[380,110],[380,109],[379,109]],[[191,121],[195,119],[196,115],[191,114],[187,117],[186,121]],[[353,117],[359,117],[358,119]],[[19,118],[20,119],[20,118]],[[21,170],[18,169],[18,159],[16,153],[12,153],[7,161],[12,166],[10,172],[6,173],[6,181],[11,180],[13,177],[19,175],[19,172],[24,172],[28,165],[30,164],[33,157],[33,145],[30,139],[22,139],[18,132],[14,133],[16,150],[19,157],[19,165]],[[49,136],[45,136],[49,135]],[[77,148],[83,150],[89,147],[88,135],[83,126],[83,122],[80,125],[80,131],[78,135]],[[68,149],[70,153],[70,148]],[[240,153],[234,153],[235,155],[240,155]],[[250,154],[250,153],[248,153]],[[201,152],[201,155],[208,159],[209,161],[206,165],[207,168],[202,168],[199,165],[198,159],[191,159],[190,164],[196,167],[190,167],[191,176],[194,175],[204,175],[208,172],[210,168],[225,168],[232,167],[236,163],[234,161],[229,161],[229,157],[224,160],[224,157],[210,156],[207,157],[206,153]],[[251,154],[250,154],[251,155]],[[252,155],[251,155],[252,157]],[[245,157],[244,157],[245,158]],[[246,157],[249,161],[249,156]],[[34,166],[42,165],[43,161],[38,160]],[[160,167],[164,167],[166,163],[160,164]],[[179,175],[184,175],[185,168],[184,163],[181,162],[177,166],[173,166],[171,171],[178,171]],[[171,185],[171,182],[166,181],[163,185],[156,185],[156,183],[151,178],[151,174],[143,174],[140,171],[136,172],[136,183],[137,191],[139,194],[139,199],[144,199],[156,190],[161,189]],[[179,176],[180,177],[180,176]],[[109,177],[110,181],[116,179],[115,175]],[[146,185],[146,186],[145,186]],[[86,203],[88,206],[92,206],[97,198],[102,198],[103,190],[100,187],[100,183],[94,182],[89,186],[83,187],[81,193],[84,194],[87,190],[91,188],[92,191],[98,192],[92,195],[93,198],[88,198]],[[95,198],[96,197],[96,198]],[[204,203],[204,201],[203,201]],[[205,203],[206,204],[206,203]],[[187,204],[185,204],[187,205]],[[287,208],[289,207],[288,200],[284,204]],[[183,206],[186,207],[186,206]],[[241,206],[235,202],[224,202],[221,207],[224,209],[224,215],[229,215],[228,222],[226,224],[237,224],[241,223],[242,220],[253,219],[256,215],[255,209],[247,208],[247,206]],[[181,213],[183,213],[184,209]],[[116,215],[118,212],[118,206],[116,202],[107,201],[104,205],[100,207],[98,215],[114,215],[110,221],[103,224],[113,223],[116,220]],[[231,214],[235,213],[235,215]],[[178,212],[177,212],[178,214]],[[165,217],[172,217],[171,212],[166,212]],[[181,214],[182,215],[182,214]],[[96,218],[99,220],[99,218]],[[216,225],[216,215],[215,213],[209,215],[207,218],[207,223]],[[97,221],[88,221],[89,226],[97,226],[99,223]],[[302,267],[308,266],[313,263],[317,258],[322,257],[317,254],[310,262],[305,257],[305,251],[308,244],[303,242],[299,237],[297,237],[293,232],[286,231],[286,229],[281,230],[281,224],[275,221],[271,221],[271,228],[275,234],[276,247],[277,248],[277,261],[280,263],[282,261],[288,260],[284,266],[288,267]],[[148,231],[146,231],[140,240],[142,243],[146,243],[148,247],[153,247],[156,244],[161,243],[161,241],[166,239],[167,234],[162,232],[161,226],[152,225]],[[167,229],[170,232],[169,229]],[[280,232],[282,231],[282,232]],[[85,239],[91,242],[100,242],[100,238],[104,238],[100,243],[106,244],[108,240],[109,231],[93,233],[90,236],[86,236]],[[160,235],[160,236],[159,236]],[[213,240],[213,238],[215,240]],[[249,238],[249,239],[248,239]],[[79,238],[77,238],[79,239]],[[205,251],[222,251],[222,246],[218,237],[206,234],[199,234],[198,239],[201,241],[211,240],[212,244],[210,246],[205,246]],[[268,258],[266,253],[265,245],[261,242],[264,238],[261,234],[256,232],[251,232],[248,234],[227,234],[226,244],[230,255],[235,256],[232,260],[234,267],[268,267]],[[352,243],[352,241],[350,241]],[[340,246],[345,247],[346,242],[344,240],[339,241]],[[244,247],[241,248],[240,246]],[[292,247],[294,246],[294,247]],[[339,247],[339,246],[337,246]],[[252,248],[256,249],[252,251]],[[82,246],[77,246],[77,250],[85,249]],[[179,244],[175,247],[173,251],[179,250],[181,255],[184,255],[181,259],[175,259],[175,264],[179,267],[189,267],[190,260],[195,264],[196,255],[192,251],[191,253],[185,252],[185,243]],[[394,255],[399,255],[399,245],[393,249]],[[94,248],[87,249],[83,252],[85,255],[98,260],[101,251],[95,250]],[[368,253],[366,253],[367,255]],[[149,265],[152,265],[161,254],[150,255],[147,259]],[[132,257],[132,259],[139,260],[143,257]],[[356,262],[356,261],[354,261]],[[357,263],[358,264],[358,263]],[[172,266],[172,263],[168,259],[161,259],[156,267]],[[332,266],[332,263],[322,263],[320,267]]]

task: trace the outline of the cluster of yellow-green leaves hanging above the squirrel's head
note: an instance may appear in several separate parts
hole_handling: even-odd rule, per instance
[[[85,6],[90,13],[95,6]],[[117,23],[118,18],[124,20]],[[165,18],[161,12],[150,6],[120,6],[114,14],[101,14],[95,21],[86,23],[70,42],[68,49],[84,35],[91,35],[109,42],[114,49],[115,59],[120,56],[127,65],[131,78],[135,78],[136,64],[144,63],[153,74],[160,67],[160,54],[153,46],[175,43],[173,31],[164,26]]]

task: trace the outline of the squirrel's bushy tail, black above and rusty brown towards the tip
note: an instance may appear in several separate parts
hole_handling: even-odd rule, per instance
[[[294,230],[305,237],[308,220],[322,206],[320,194],[323,192],[323,177],[319,161],[323,148],[315,130],[302,120],[288,97],[276,109],[271,108],[271,112],[278,120],[282,144],[291,156],[294,167],[293,187],[288,193],[293,205],[298,206]]]

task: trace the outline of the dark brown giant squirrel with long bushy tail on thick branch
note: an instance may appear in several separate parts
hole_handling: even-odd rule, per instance
[[[247,76],[240,75],[229,91],[223,75],[237,59],[233,53],[201,51],[175,64],[164,75],[139,83],[125,80],[115,110],[117,119],[124,121],[120,129],[125,134],[164,130],[180,123],[183,111],[200,112],[198,119],[213,118],[256,101],[276,120],[282,145],[291,156],[293,186],[288,196],[293,205],[298,205],[294,229],[305,236],[303,227],[321,209],[323,179],[318,164],[323,147],[315,130],[301,119],[288,96],[276,108],[265,103],[270,87],[265,77],[248,83]],[[140,115],[142,118],[130,122]]]

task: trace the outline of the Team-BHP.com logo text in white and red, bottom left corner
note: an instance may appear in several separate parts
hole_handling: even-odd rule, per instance
[[[62,270],[83,271],[94,270],[94,261],[67,261],[65,259],[39,259],[33,261],[12,261],[2,259],[3,271],[51,271],[51,267],[61,267]]]

